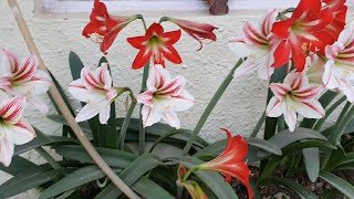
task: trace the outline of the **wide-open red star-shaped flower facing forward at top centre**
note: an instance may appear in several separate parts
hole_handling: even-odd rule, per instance
[[[165,66],[165,59],[180,64],[181,59],[173,46],[179,38],[181,31],[164,32],[164,28],[158,23],[153,23],[143,36],[128,38],[127,41],[135,48],[138,49],[134,62],[133,69],[138,70],[147,64],[153,57],[154,64],[160,64]]]

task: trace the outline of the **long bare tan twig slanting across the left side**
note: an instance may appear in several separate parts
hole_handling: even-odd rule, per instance
[[[12,10],[12,13],[15,18],[15,21],[19,25],[19,29],[23,35],[23,39],[30,50],[31,53],[35,54],[38,56],[39,63],[40,63],[40,70],[46,71],[48,69],[44,65],[44,62],[34,44],[33,38],[30,33],[30,30],[23,19],[23,15],[21,13],[20,7],[17,2],[17,0],[8,0],[9,6]],[[82,144],[82,146],[86,149],[91,158],[96,163],[96,165],[102,169],[102,171],[112,180],[112,182],[122,190],[127,197],[133,199],[139,199],[139,197],[127,186],[124,184],[124,181],[110,168],[110,166],[104,161],[104,159],[100,156],[97,150],[92,146],[85,134],[81,130],[80,126],[76,124],[74,117],[70,113],[66,104],[64,103],[62,96],[60,95],[58,88],[52,85],[49,88],[49,93],[53,96],[53,100],[55,101],[58,107],[60,108],[61,113],[63,114],[65,121],[67,122],[69,126],[72,128],[74,134],[76,135],[77,139]]]

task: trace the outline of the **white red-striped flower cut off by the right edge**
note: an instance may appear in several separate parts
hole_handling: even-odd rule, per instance
[[[339,40],[325,48],[323,84],[329,90],[340,90],[354,103],[354,22],[341,32]]]

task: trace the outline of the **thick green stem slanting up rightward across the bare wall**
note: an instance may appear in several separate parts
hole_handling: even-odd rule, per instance
[[[204,124],[207,122],[209,115],[211,114],[214,107],[217,105],[218,101],[220,100],[221,95],[223,94],[223,92],[226,91],[226,88],[229,86],[229,84],[231,83],[232,78],[233,78],[233,73],[236,71],[237,67],[239,67],[242,63],[242,59],[240,59],[236,65],[232,67],[232,70],[230,71],[230,73],[226,76],[226,78],[223,80],[223,82],[221,83],[221,85],[219,86],[219,88],[217,90],[217,92],[214,94],[211,101],[209,102],[207,108],[204,111],[201,117],[199,118],[195,129],[192,130],[189,140],[187,143],[187,145],[184,148],[184,151],[186,154],[188,154],[188,151],[190,150],[192,144],[195,143],[200,129],[202,128]]]

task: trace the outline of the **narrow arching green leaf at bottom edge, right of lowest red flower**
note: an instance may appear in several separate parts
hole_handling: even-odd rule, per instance
[[[264,185],[264,186],[269,185],[269,184],[284,186],[285,188],[298,193],[299,197],[301,197],[303,199],[319,199],[319,197],[315,193],[311,192],[302,185],[300,185],[291,179],[288,179],[288,178],[271,178],[271,179],[268,179],[262,182],[262,185]]]

